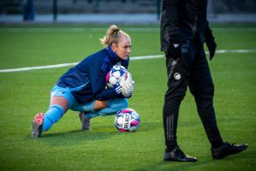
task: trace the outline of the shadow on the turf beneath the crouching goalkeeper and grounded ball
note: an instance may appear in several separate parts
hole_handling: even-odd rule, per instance
[[[106,139],[137,139],[141,135],[147,135],[148,132],[158,133],[159,123],[150,122],[141,125],[136,132],[121,133],[117,131],[116,127],[110,126],[96,126],[92,127],[91,131],[72,130],[63,133],[43,133],[39,140],[43,144],[51,145],[68,145],[68,144],[81,144],[86,142],[106,140]],[[160,127],[162,131],[162,127]],[[27,139],[33,139],[27,136]],[[139,139],[139,138],[138,138]]]

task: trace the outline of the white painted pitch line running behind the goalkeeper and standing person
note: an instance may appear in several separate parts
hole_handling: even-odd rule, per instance
[[[255,52],[256,52],[256,50],[216,50],[217,54],[223,54],[223,53],[255,53]],[[208,51],[206,51],[205,53],[209,54]],[[130,57],[130,60],[131,61],[136,61],[136,60],[156,59],[156,58],[162,58],[162,57],[164,57],[164,55],[134,56],[134,57]],[[63,67],[74,66],[77,63],[78,62],[61,63],[61,64],[56,64],[56,65],[46,65],[46,66],[39,66],[39,67],[0,69],[0,73],[11,73],[11,72],[29,71],[29,70],[46,69],[46,68],[63,68]]]

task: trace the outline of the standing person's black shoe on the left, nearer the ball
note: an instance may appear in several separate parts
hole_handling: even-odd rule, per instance
[[[175,162],[197,162],[197,158],[194,156],[186,155],[179,146],[170,152],[164,152],[164,161],[175,161]]]

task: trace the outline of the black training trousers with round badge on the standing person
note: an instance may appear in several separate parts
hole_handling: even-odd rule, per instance
[[[182,58],[174,62],[174,59],[167,55],[166,67],[168,90],[165,93],[163,110],[166,150],[172,150],[177,145],[176,130],[179,108],[187,87],[193,94],[200,120],[205,127],[211,146],[217,147],[223,144],[223,139],[217,128],[213,108],[214,85],[203,44],[184,44]]]

